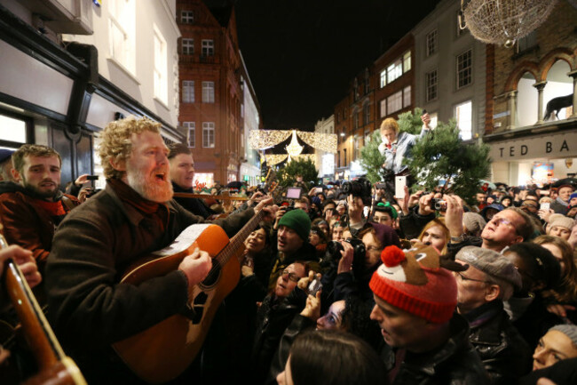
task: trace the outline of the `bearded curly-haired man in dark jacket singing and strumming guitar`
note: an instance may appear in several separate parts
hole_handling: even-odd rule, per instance
[[[189,296],[213,264],[209,253],[196,249],[166,274],[138,285],[120,283],[123,272],[141,257],[204,222],[172,200],[169,149],[160,126],[134,116],[107,124],[99,146],[107,187],[62,221],[48,258],[51,324],[89,383],[141,382],[143,377],[124,365],[126,359],[111,344],[175,315],[194,317]],[[233,237],[259,211],[272,216],[276,207],[265,207],[270,203],[212,223]],[[146,346],[142,354],[153,348]],[[167,350],[154,354],[162,357]]]

